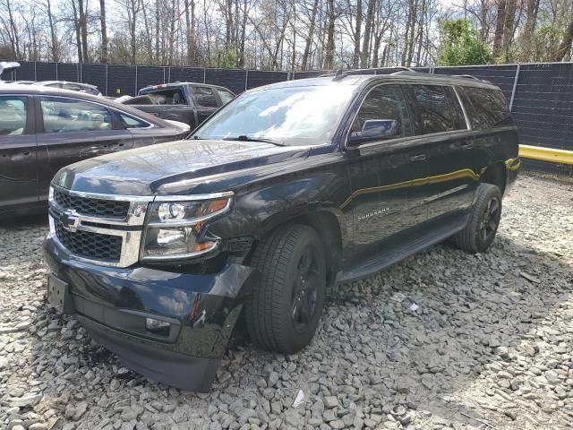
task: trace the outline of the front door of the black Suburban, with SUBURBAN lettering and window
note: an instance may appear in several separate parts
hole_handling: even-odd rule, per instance
[[[385,241],[406,234],[427,217],[425,154],[412,136],[400,85],[382,84],[370,90],[350,136],[365,135],[376,124],[391,125],[389,135],[357,144],[349,137],[346,143],[352,195],[344,205],[354,212],[355,262],[376,254]]]

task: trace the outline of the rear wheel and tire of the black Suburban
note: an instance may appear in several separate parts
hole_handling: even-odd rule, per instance
[[[483,253],[492,245],[500,226],[501,192],[497,185],[480,184],[466,227],[455,236],[459,248]]]

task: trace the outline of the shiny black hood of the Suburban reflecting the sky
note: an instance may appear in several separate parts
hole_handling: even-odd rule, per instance
[[[202,185],[201,193],[216,192],[222,191],[218,184],[225,176],[305,159],[309,150],[265,142],[167,142],[72,164],[62,168],[52,183],[85,193],[153,195],[166,185],[186,183],[193,186],[175,186],[173,190],[196,193],[193,188]]]

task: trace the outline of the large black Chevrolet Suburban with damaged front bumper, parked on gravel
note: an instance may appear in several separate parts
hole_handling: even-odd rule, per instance
[[[421,73],[250,90],[191,139],[60,170],[44,247],[52,304],[195,391],[241,314],[262,348],[294,353],[329,283],[450,236],[485,251],[520,165],[498,88]]]

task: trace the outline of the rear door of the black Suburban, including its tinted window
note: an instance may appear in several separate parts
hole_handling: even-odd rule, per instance
[[[405,85],[415,134],[424,136],[428,219],[463,214],[479,176],[468,165],[472,140],[455,90],[447,85]]]

